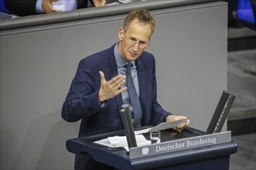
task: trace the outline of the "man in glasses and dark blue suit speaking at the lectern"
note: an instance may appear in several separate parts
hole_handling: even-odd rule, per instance
[[[119,29],[119,42],[81,59],[62,109],[64,120],[81,120],[80,137],[123,130],[119,112],[122,104],[130,104],[126,87],[127,63],[133,64],[133,83],[142,110],[141,126],[187,118],[172,115],[157,102],[155,59],[144,51],[150,43],[154,26],[150,12],[134,10]],[[188,124],[189,119],[175,130],[182,131]]]

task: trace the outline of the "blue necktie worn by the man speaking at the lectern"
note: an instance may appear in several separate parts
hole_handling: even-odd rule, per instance
[[[133,114],[134,114],[133,126],[137,128],[137,127],[140,127],[140,119],[142,117],[142,111],[140,106],[140,100],[133,83],[133,77],[131,73],[132,66],[133,66],[132,63],[127,63],[126,65],[126,69],[127,69],[126,81],[127,81],[128,93],[130,96],[130,102],[133,107]]]

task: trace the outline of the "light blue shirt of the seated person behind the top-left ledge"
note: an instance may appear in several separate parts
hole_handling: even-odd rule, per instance
[[[42,1],[37,0],[36,2],[36,12],[43,13]],[[65,11],[71,11],[78,8],[77,0],[59,0],[57,2],[52,2],[53,5],[64,5]]]

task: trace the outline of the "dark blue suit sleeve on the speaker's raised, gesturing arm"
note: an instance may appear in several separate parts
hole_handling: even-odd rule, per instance
[[[71,82],[62,107],[62,117],[66,121],[79,121],[89,117],[101,109],[99,107],[99,73],[95,75],[88,59],[82,59],[78,70]],[[97,79],[97,80],[95,80]]]

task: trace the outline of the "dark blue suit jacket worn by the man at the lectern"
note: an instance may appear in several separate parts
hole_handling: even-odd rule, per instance
[[[144,52],[136,63],[142,107],[141,125],[159,124],[170,113],[157,103],[154,56]],[[81,59],[67,93],[62,117],[70,122],[81,120],[79,136],[123,130],[119,116],[123,104],[122,95],[107,100],[104,107],[99,106],[100,70],[107,81],[118,74],[114,46]]]

